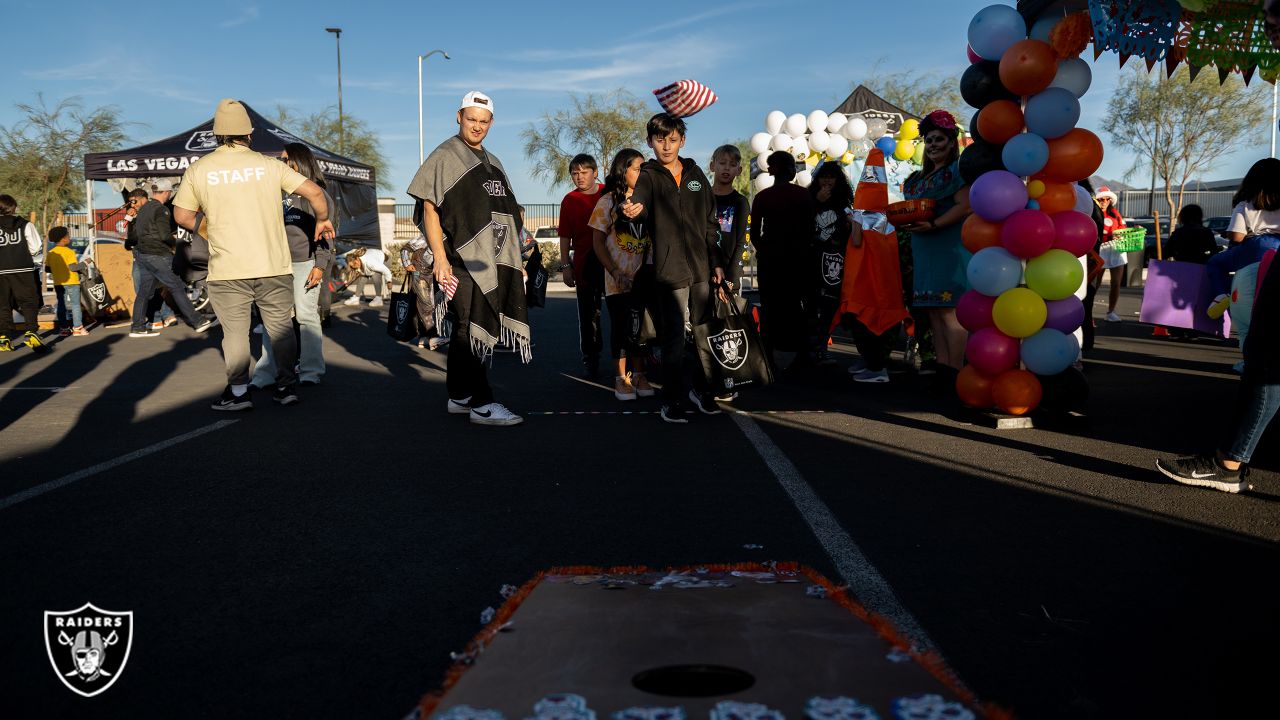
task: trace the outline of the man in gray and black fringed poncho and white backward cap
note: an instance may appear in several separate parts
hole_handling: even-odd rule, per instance
[[[431,151],[413,176],[413,222],[435,256],[435,282],[452,295],[456,322],[445,387],[448,411],[477,425],[518,425],[524,418],[494,402],[484,361],[502,342],[529,363],[529,319],[520,260],[520,205],[502,163],[484,149],[493,101],[468,92],[458,135]]]

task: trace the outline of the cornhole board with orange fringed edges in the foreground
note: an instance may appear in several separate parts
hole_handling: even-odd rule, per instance
[[[988,707],[813,570],[628,568],[526,584],[411,717],[961,719]]]

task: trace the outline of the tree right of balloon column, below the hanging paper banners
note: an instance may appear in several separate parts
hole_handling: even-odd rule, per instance
[[[1134,67],[1121,74],[1102,128],[1112,147],[1133,155],[1125,178],[1153,169],[1176,218],[1187,182],[1213,169],[1266,127],[1266,94],[1247,87],[1238,76],[1219,83],[1217,73],[1207,72],[1193,81],[1181,65],[1166,79],[1160,72]]]

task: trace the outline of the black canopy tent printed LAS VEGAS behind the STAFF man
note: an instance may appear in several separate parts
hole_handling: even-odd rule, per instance
[[[374,168],[317,147],[276,127],[275,123],[257,114],[248,105],[244,105],[244,109],[253,124],[253,150],[278,158],[284,151],[284,146],[291,142],[301,142],[311,149],[320,164],[320,172],[324,173],[325,188],[334,199],[335,208],[330,209],[330,214],[338,225],[338,238],[356,245],[379,247],[381,240],[378,232],[378,195]],[[214,120],[210,118],[204,124],[148,145],[84,155],[90,218],[93,218],[93,181],[178,177],[200,156],[212,152],[216,147]],[[96,231],[96,224],[93,228]]]

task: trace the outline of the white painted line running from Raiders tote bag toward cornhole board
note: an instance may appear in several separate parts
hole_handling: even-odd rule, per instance
[[[827,551],[840,577],[849,583],[854,597],[864,607],[888,618],[904,635],[911,639],[919,650],[936,650],[928,633],[911,612],[902,606],[893,593],[888,580],[872,565],[867,555],[863,553],[854,538],[840,525],[840,521],[831,512],[831,509],[818,497],[813,487],[804,479],[800,470],[782,452],[782,450],[769,439],[769,436],[760,429],[760,425],[746,413],[730,413],[730,418],[737,424],[746,439],[751,442],[755,451],[760,454],[765,465],[773,471],[782,489],[791,497],[796,510],[813,530],[818,543]]]

